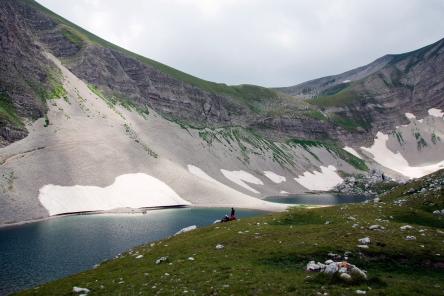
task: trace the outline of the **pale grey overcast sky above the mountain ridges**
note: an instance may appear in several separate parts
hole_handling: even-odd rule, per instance
[[[38,0],[206,80],[287,86],[444,37],[444,0]]]

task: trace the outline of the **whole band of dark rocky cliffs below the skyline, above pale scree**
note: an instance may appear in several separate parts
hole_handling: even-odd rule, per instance
[[[421,115],[444,104],[444,41],[271,90],[192,77],[110,44],[31,0],[1,1],[0,12],[0,91],[7,110],[0,114],[1,145],[24,137],[21,122],[44,116],[46,99],[63,93],[43,51],[112,101],[149,107],[182,125],[242,126],[278,141],[370,145],[378,131],[406,124],[405,112]]]

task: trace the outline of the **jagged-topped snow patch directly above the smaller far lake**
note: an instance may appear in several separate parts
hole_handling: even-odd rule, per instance
[[[321,171],[313,173],[307,171],[302,176],[294,178],[296,182],[309,190],[330,190],[343,180],[336,173],[336,167],[329,165],[321,166]]]

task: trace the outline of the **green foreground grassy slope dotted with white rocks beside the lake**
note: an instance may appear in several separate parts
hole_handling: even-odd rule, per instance
[[[432,179],[443,188],[444,171]],[[92,295],[353,295],[357,289],[369,295],[442,295],[444,219],[431,212],[444,208],[444,189],[406,193],[428,183],[425,177],[396,187],[380,203],[293,209],[198,229],[21,294],[71,295],[73,286],[80,286]],[[405,202],[399,206],[398,200]],[[331,224],[324,224],[327,220]],[[354,223],[363,228],[353,228]],[[401,231],[406,223],[414,229]],[[385,230],[368,230],[372,224]],[[407,235],[417,240],[406,241]],[[357,240],[365,236],[372,242],[361,250]],[[219,243],[223,250],[215,249]],[[368,282],[347,286],[304,271],[309,260],[324,261],[329,252],[346,251],[352,252],[349,262],[368,271]],[[136,259],[138,254],[144,257]],[[161,256],[168,261],[156,265]]]

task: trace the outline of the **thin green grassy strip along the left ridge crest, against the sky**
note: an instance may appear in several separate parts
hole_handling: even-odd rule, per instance
[[[275,91],[260,87],[256,85],[237,85],[237,86],[229,86],[224,83],[214,83],[211,81],[203,80],[200,78],[197,78],[195,76],[189,75],[187,73],[184,73],[182,71],[176,70],[172,67],[169,67],[167,65],[164,65],[162,63],[156,62],[152,59],[143,57],[141,55],[138,55],[136,53],[133,53],[131,51],[128,51],[122,47],[119,47],[115,44],[112,44],[86,30],[83,28],[71,23],[70,21],[64,19],[63,17],[55,14],[54,12],[50,11],[49,9],[45,8],[44,6],[40,5],[39,3],[33,1],[33,0],[20,0],[27,5],[30,5],[39,11],[45,13],[47,16],[51,17],[55,22],[62,24],[64,26],[62,33],[67,37],[70,41],[77,45],[81,45],[82,42],[100,45],[103,47],[107,47],[113,50],[117,50],[119,52],[122,52],[123,54],[132,57],[134,59],[137,59],[138,61],[145,63],[147,65],[150,65],[159,71],[175,78],[180,81],[189,83],[191,85],[194,85],[196,87],[199,87],[203,90],[220,94],[220,95],[229,95],[232,97],[239,98],[246,102],[247,104],[251,104],[251,100],[265,100],[265,99],[276,99],[281,94],[276,93]]]

